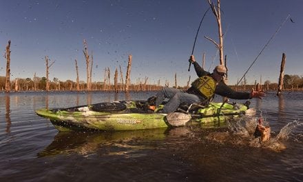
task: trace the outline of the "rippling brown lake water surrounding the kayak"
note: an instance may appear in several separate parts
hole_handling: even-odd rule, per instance
[[[255,118],[217,129],[59,132],[34,112],[154,94],[0,93],[0,181],[303,181],[302,92],[251,100],[271,126],[265,143],[242,127]]]

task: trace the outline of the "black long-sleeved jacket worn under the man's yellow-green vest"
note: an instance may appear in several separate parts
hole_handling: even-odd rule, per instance
[[[203,70],[197,62],[194,62],[193,64],[198,77],[206,75],[211,76],[211,73]],[[187,93],[196,94],[199,97],[202,97],[202,95],[196,90],[196,88],[193,87],[189,88],[187,90]],[[218,94],[223,97],[228,97],[229,99],[251,99],[249,92],[236,92],[229,88],[229,86],[226,85],[223,81],[220,81],[218,85],[216,85],[215,94]]]

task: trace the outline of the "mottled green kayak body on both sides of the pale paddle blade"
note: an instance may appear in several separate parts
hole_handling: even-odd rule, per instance
[[[134,105],[134,104],[132,104]],[[129,113],[126,109],[116,112],[94,111],[92,105],[85,105],[71,109],[39,109],[36,114],[49,119],[54,127],[60,131],[68,130],[146,130],[168,128],[167,114],[164,113]],[[234,108],[229,103],[211,103],[207,108],[201,108],[196,114],[191,114],[191,121],[187,125],[201,125],[205,128],[224,126],[227,120],[241,117],[248,110],[240,105]]]

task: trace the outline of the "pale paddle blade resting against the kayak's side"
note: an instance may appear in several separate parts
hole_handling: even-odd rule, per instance
[[[167,114],[166,119],[172,126],[185,126],[191,120],[191,115],[182,112],[170,112]]]

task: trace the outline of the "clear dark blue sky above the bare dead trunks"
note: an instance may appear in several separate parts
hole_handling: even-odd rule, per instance
[[[0,6],[0,76],[6,74],[3,57],[8,40],[11,45],[11,79],[45,77],[45,56],[56,61],[50,79],[76,80],[74,59],[80,79],[85,81],[83,39],[93,52],[93,81],[103,81],[104,70],[112,73],[121,65],[126,72],[132,54],[132,83],[148,77],[151,84],[169,81],[186,85],[194,68],[188,72],[188,59],[202,15],[209,8],[207,0],[125,0],[125,1],[1,1]],[[285,74],[303,75],[302,14],[300,0],[229,0],[221,1],[224,54],[227,54],[229,84],[235,84],[275,33],[286,21],[247,73],[255,80],[278,82],[282,53],[286,54]],[[204,37],[218,41],[218,27],[209,11],[198,34],[194,55],[206,70],[219,63],[216,47]],[[112,76],[113,78],[113,76]]]

